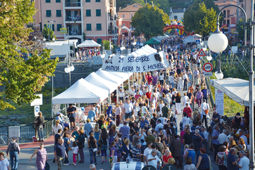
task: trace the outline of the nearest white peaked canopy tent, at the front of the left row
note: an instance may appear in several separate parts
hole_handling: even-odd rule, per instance
[[[85,79],[80,79],[63,93],[52,98],[52,104],[100,103],[108,96],[108,91]]]

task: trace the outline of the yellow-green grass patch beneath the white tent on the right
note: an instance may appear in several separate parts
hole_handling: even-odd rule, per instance
[[[210,86],[213,99],[215,101],[215,88]],[[224,94],[224,115],[233,117],[237,112],[240,112],[241,116],[244,116],[244,106],[235,102],[233,99]]]

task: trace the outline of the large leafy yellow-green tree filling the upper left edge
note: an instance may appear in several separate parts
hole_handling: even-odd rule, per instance
[[[34,2],[30,0],[2,0],[0,8],[0,108],[14,108],[13,103],[29,103],[36,98],[52,76],[57,60],[48,60],[50,50],[37,50],[24,60],[32,29],[26,25],[33,22]]]

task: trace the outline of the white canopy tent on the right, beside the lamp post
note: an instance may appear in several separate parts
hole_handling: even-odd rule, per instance
[[[222,80],[211,80],[211,85],[223,91],[240,105],[249,105],[249,81],[238,78],[226,78]]]

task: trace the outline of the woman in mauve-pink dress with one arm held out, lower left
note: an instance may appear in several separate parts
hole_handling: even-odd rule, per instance
[[[44,148],[44,144],[40,144],[40,148],[36,149],[34,153],[31,155],[29,162],[31,162],[33,156],[36,155],[36,167],[37,170],[44,170],[46,167],[47,161],[47,151]]]

